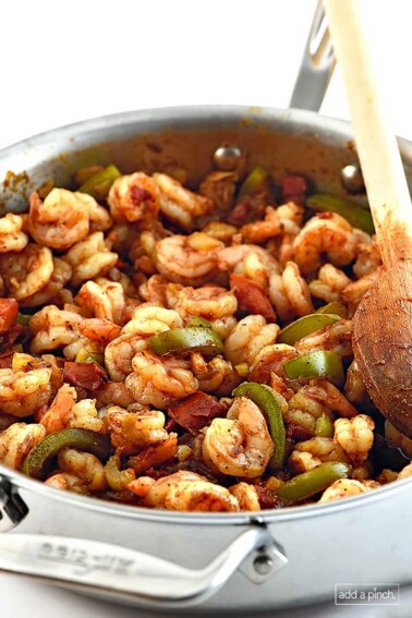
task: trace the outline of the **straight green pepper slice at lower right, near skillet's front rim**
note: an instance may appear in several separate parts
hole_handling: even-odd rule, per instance
[[[351,471],[352,466],[348,463],[328,461],[287,481],[279,487],[277,495],[284,500],[298,502],[324,492],[339,478],[348,478]]]

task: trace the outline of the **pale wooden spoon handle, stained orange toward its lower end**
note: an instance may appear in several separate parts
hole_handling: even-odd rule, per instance
[[[362,23],[360,0],[324,0],[349,99],[367,196],[386,267],[412,258],[412,206]]]

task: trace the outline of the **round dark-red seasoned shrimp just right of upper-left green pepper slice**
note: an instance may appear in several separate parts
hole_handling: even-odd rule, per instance
[[[119,222],[156,219],[160,191],[156,181],[143,172],[121,175],[110,187],[107,202],[111,216]]]

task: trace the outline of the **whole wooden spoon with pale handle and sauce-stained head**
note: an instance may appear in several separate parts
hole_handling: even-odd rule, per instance
[[[412,206],[359,0],[324,0],[384,262],[354,316],[353,351],[380,412],[412,438]]]

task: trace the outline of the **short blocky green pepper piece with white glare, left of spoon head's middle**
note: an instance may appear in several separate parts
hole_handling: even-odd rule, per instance
[[[336,352],[315,350],[287,361],[282,367],[289,379],[323,377],[338,387],[344,384],[342,359]]]

